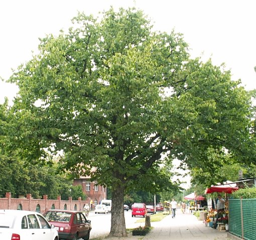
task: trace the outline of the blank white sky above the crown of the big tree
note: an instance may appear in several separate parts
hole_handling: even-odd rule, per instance
[[[255,0],[2,0],[0,1],[0,76],[8,79],[37,51],[38,37],[57,35],[71,26],[78,11],[94,16],[112,5],[136,6],[152,19],[155,29],[184,34],[192,57],[225,62],[233,79],[256,88]],[[17,87],[0,80],[0,103]]]

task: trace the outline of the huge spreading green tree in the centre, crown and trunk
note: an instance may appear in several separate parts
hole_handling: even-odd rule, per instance
[[[128,190],[170,185],[162,167],[174,158],[211,168],[209,153],[245,149],[250,100],[229,71],[190,59],[182,35],[154,32],[142,11],[79,13],[73,23],[42,38],[10,78],[20,88],[13,146],[33,159],[62,150],[63,168],[110,187],[109,235],[125,236]]]

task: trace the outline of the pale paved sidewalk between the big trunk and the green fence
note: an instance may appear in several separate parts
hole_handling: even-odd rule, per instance
[[[138,223],[136,223],[138,226]],[[144,226],[144,223],[139,225]],[[133,236],[131,233],[127,237],[106,237],[106,240],[227,240],[227,232],[218,231],[209,226],[205,226],[202,220],[198,220],[192,213],[182,213],[180,209],[176,211],[176,217],[167,215],[163,220],[151,222],[153,229],[146,236]],[[127,228],[136,227],[126,226]]]

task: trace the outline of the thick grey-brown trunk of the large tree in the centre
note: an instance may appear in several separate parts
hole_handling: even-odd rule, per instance
[[[108,236],[127,236],[124,210],[124,187],[120,186],[118,189],[112,190],[112,206],[111,206],[111,229]]]

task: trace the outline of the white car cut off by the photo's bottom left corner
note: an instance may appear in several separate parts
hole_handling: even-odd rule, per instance
[[[58,240],[58,231],[35,211],[0,209],[0,239]]]

